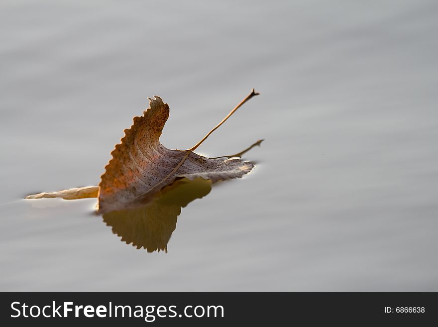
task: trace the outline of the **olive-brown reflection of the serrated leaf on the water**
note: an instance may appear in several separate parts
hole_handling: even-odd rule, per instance
[[[202,178],[186,178],[165,187],[157,197],[143,207],[113,211],[103,215],[112,232],[127,244],[148,252],[166,250],[181,208],[210,193],[211,182]]]

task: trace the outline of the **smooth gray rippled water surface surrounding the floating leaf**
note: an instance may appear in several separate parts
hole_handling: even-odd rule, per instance
[[[436,1],[1,1],[1,291],[438,291]],[[164,251],[95,199],[132,117],[257,163]]]

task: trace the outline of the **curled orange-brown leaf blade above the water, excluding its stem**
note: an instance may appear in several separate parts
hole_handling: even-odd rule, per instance
[[[217,182],[239,178],[254,165],[238,159],[210,159],[191,150],[170,150],[159,137],[169,117],[169,106],[160,97],[150,99],[150,108],[125,129],[121,143],[111,152],[99,184],[99,212],[133,208],[147,203],[154,194],[180,178],[201,177]]]

